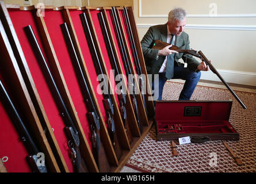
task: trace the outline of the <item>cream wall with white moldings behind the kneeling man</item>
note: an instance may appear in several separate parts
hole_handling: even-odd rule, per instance
[[[256,1],[133,0],[140,39],[148,28],[165,24],[174,7],[188,11],[190,47],[201,50],[227,82],[256,86]],[[202,79],[219,81],[212,72]]]

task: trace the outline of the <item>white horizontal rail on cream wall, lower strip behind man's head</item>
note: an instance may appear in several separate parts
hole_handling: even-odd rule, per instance
[[[154,25],[157,24],[137,24],[137,28],[150,28]],[[256,25],[186,24],[185,29],[256,30]]]

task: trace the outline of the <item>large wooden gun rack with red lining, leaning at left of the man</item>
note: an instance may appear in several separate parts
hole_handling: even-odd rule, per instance
[[[137,113],[142,123],[140,128],[137,122],[137,114],[134,111],[133,99],[131,99],[130,95],[125,95],[125,108],[127,110],[127,125],[125,125],[120,112],[120,97],[114,93],[116,85],[110,83],[110,78],[113,75],[110,73],[110,69],[114,68],[110,63],[112,58],[109,57],[106,50],[107,45],[104,41],[97,14],[102,13],[104,18],[110,43],[113,47],[117,70],[127,77],[124,71],[125,64],[119,51],[119,43],[117,43],[116,39],[116,29],[113,27],[113,15],[111,14],[113,11],[116,12],[116,20],[119,21],[120,33],[124,40],[123,48],[128,55],[126,62],[131,65],[131,73],[136,74],[132,48],[128,41],[128,27],[124,22],[124,8],[45,6],[44,9],[40,9],[40,7],[37,8],[35,6],[21,7],[5,5],[2,1],[0,2],[1,34],[6,32],[4,39],[6,43],[9,43],[7,49],[1,47],[1,53],[6,54],[3,57],[5,59],[1,59],[1,79],[5,83],[7,91],[14,95],[17,106],[24,106],[24,108],[18,108],[18,111],[20,114],[26,115],[24,120],[29,120],[27,128],[32,132],[34,131],[32,136],[39,150],[45,155],[47,171],[77,172],[80,166],[77,167],[77,164],[74,164],[74,157],[72,157],[72,154],[74,156],[72,148],[74,143],[77,145],[77,142],[79,143],[77,148],[81,160],[84,161],[86,167],[84,171],[120,171],[146,136],[154,118],[153,102],[146,101],[145,106],[147,108],[145,108],[142,94],[136,95]],[[142,73],[147,75],[132,7],[127,7],[125,10],[131,24]],[[86,24],[82,20],[86,20]],[[85,32],[85,25],[87,25],[87,32],[88,30],[90,31],[89,36]],[[72,48],[74,48],[73,53],[68,47],[67,37],[64,36],[64,28],[62,28],[64,26],[69,32]],[[28,36],[29,32],[33,33],[31,34],[32,38],[36,40],[35,43],[39,46],[40,52],[38,50],[35,51],[35,45],[31,43],[31,37],[29,38]],[[10,52],[6,52],[6,50]],[[41,53],[41,55],[39,56],[36,53]],[[100,128],[100,132],[97,132],[97,139],[100,137],[100,152],[93,149],[95,135],[91,129],[91,119],[87,116],[91,112],[89,112],[88,106],[85,104],[86,100],[83,96],[83,90],[81,90],[81,83],[79,83],[81,78],[78,77],[79,72],[74,66],[74,58],[79,63],[81,75],[85,79],[88,93],[91,95],[91,103],[95,106],[94,114],[98,115],[99,127],[97,128]],[[40,60],[45,61],[48,73],[43,70]],[[10,68],[9,66],[13,66],[11,68],[15,68],[15,70],[7,72],[6,68]],[[101,67],[102,74],[107,78],[106,83],[109,86],[109,91],[111,91],[108,98],[112,101],[113,108],[112,123],[114,123],[114,136],[116,136],[114,143],[113,135],[109,132],[109,109],[104,104],[105,96],[97,92],[100,81],[97,81],[98,72],[96,66]],[[13,79],[16,75],[19,80]],[[49,76],[53,79],[52,81],[54,81],[61,98],[59,96],[56,97],[56,93],[53,92],[56,89],[52,87]],[[13,80],[16,82],[14,83]],[[148,81],[146,82],[148,83]],[[136,78],[134,85],[139,88]],[[17,86],[20,87],[18,90],[16,90]],[[127,90],[125,89],[127,87],[124,86],[124,90]],[[150,93],[146,94],[146,98],[151,98]],[[60,103],[60,99],[62,99],[62,103]],[[24,104],[25,102],[26,104]],[[5,127],[5,129],[1,129],[1,132],[16,135],[14,136],[14,138],[16,137],[14,141],[18,144],[9,144],[10,140],[7,137],[3,137],[0,145],[0,158],[9,158],[11,152],[21,152],[22,148],[23,154],[20,157],[16,157],[16,161],[19,160],[19,162],[9,159],[7,161],[3,160],[5,161],[3,164],[8,172],[31,172],[30,167],[24,160],[25,156],[22,156],[27,155],[24,145],[17,139],[17,132],[12,127],[12,122],[6,113],[4,105],[2,103],[0,105],[1,115],[5,114],[4,117],[6,117],[3,120],[6,125],[1,122],[1,125]],[[63,105],[68,116],[60,110],[60,106]],[[75,129],[75,135],[79,135],[79,140],[70,141],[64,131],[69,126],[67,125],[66,117],[70,117],[70,121],[72,121],[72,126],[70,125],[70,127]],[[125,126],[128,126],[128,128]],[[129,133],[127,129],[129,129]],[[72,135],[72,131],[70,132]],[[1,133],[1,135],[4,134]],[[117,144],[119,144],[119,150],[116,150]],[[6,152],[6,145],[10,145],[10,148],[8,148],[10,152]]]

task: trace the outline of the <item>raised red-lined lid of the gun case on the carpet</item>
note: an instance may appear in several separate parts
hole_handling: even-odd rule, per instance
[[[229,120],[232,101],[156,101],[156,121]]]

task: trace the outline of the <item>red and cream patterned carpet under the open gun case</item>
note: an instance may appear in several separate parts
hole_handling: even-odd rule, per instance
[[[182,83],[166,82],[163,100],[177,100],[182,87]],[[230,122],[240,133],[240,140],[226,142],[243,162],[243,166],[236,164],[235,159],[220,140],[182,145],[178,145],[178,141],[176,141],[178,156],[173,156],[170,141],[156,141],[154,126],[125,166],[137,171],[151,173],[256,172],[256,94],[240,91],[235,91],[235,93],[247,106],[246,110],[236,102],[230,91],[226,89],[197,86],[191,100],[232,99]],[[215,157],[212,154],[215,154]]]

